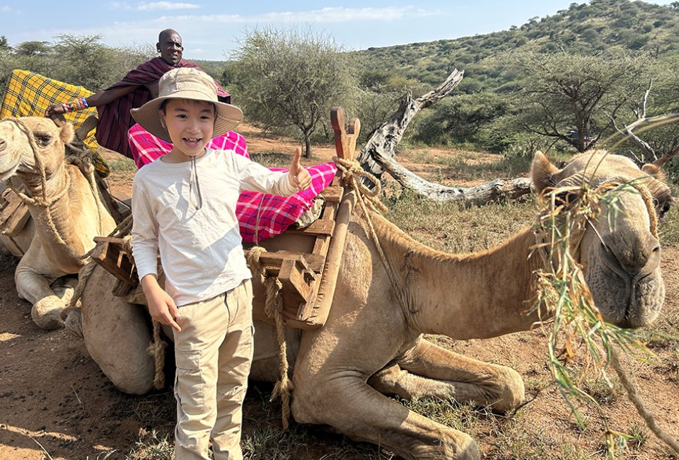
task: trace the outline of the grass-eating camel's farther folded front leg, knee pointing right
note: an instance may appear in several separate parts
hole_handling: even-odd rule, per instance
[[[412,350],[371,376],[385,394],[412,399],[453,398],[504,412],[525,398],[521,376],[509,367],[472,360],[420,338]]]

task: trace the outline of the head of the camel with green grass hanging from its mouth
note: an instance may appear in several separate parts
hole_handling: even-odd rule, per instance
[[[593,189],[607,183],[629,184],[634,179],[645,185],[623,185],[608,192],[613,194],[612,200],[599,201],[600,214],[585,226],[573,254],[604,319],[622,327],[651,324],[665,298],[660,243],[651,229],[657,217],[668,211],[671,193],[658,174],[658,168],[647,165],[640,169],[630,159],[605,151],[576,156],[561,170],[540,152],[533,159],[533,183],[540,193],[579,185],[583,180]],[[645,199],[644,190],[650,192]],[[571,202],[574,199],[577,196],[568,197]]]

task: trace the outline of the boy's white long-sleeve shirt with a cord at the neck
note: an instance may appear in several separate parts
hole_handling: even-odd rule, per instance
[[[165,289],[177,306],[210,299],[252,276],[236,220],[241,190],[296,192],[287,173],[233,151],[207,149],[196,161],[196,173],[197,181],[191,181],[190,162],[158,159],[137,171],[132,185],[132,254],[139,280],[157,275],[160,251]]]

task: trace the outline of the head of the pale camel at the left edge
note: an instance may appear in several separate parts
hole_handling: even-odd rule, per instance
[[[29,132],[33,134],[35,142],[30,141]],[[1,120],[0,180],[7,180],[15,174],[33,176],[39,173],[36,169],[36,156],[45,166],[45,173],[49,178],[64,163],[64,144],[71,142],[73,137],[73,125],[64,123],[59,127],[50,118]]]

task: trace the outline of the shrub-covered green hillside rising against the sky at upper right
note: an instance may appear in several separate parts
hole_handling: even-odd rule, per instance
[[[366,69],[383,69],[428,86],[438,85],[454,68],[465,70],[458,91],[498,88],[507,82],[494,62],[501,52],[537,51],[593,54],[623,47],[654,57],[679,52],[679,2],[669,6],[643,1],[592,0],[567,10],[531,18],[521,26],[485,35],[368,48],[352,52]]]

